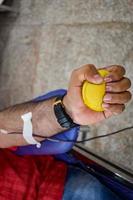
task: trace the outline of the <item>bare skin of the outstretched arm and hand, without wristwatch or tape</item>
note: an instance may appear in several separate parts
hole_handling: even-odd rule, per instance
[[[131,93],[128,91],[131,81],[124,77],[124,67],[112,65],[106,70],[109,71],[109,75],[104,78],[106,81],[106,94],[103,100],[104,112],[95,112],[86,107],[81,95],[85,80],[95,84],[102,83],[103,78],[99,75],[96,67],[86,64],[72,72],[63,104],[75,123],[90,125],[104,121],[105,118],[123,112],[125,104],[131,99]],[[28,145],[22,136],[23,122],[21,119],[21,115],[27,112],[32,112],[33,132],[36,135],[50,137],[65,130],[56,120],[53,111],[54,101],[55,98],[40,103],[22,103],[0,111],[0,148]],[[9,134],[11,132],[14,134]],[[20,134],[15,134],[15,132]],[[36,139],[43,140],[39,137]]]

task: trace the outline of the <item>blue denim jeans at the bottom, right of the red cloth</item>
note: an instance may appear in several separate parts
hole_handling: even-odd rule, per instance
[[[63,200],[120,200],[86,171],[69,166]]]

